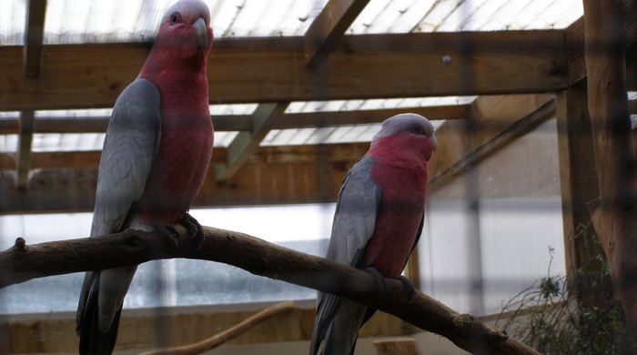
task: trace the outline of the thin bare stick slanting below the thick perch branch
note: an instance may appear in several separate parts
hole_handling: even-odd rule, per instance
[[[274,306],[268,307],[267,309],[261,310],[254,316],[248,318],[248,320],[244,320],[229,330],[224,330],[207,340],[201,340],[195,344],[184,345],[181,347],[146,351],[139,355],[197,355],[204,351],[215,349],[219,345],[233,340],[246,331],[255,328],[258,324],[261,324],[279,314],[287,313],[292,309],[294,309],[294,302],[291,300],[280,302]]]

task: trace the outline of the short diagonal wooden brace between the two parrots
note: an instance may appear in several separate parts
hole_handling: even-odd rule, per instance
[[[248,158],[257,149],[263,138],[268,135],[274,122],[278,121],[288,107],[287,103],[260,104],[252,114],[252,130],[239,132],[227,147],[226,164],[215,167],[215,177],[218,183],[226,183],[234,177]]]

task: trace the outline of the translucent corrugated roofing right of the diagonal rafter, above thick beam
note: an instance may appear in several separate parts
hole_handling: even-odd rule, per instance
[[[565,28],[580,0],[370,0],[348,34]]]

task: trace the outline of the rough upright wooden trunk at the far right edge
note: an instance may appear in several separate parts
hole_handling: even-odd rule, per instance
[[[591,221],[609,260],[612,285],[637,340],[637,163],[626,96],[623,0],[584,0],[588,102],[599,200],[589,203]]]

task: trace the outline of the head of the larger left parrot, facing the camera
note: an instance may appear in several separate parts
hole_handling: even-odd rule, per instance
[[[201,0],[180,0],[162,17],[155,45],[182,57],[206,57],[212,38],[207,5]]]

